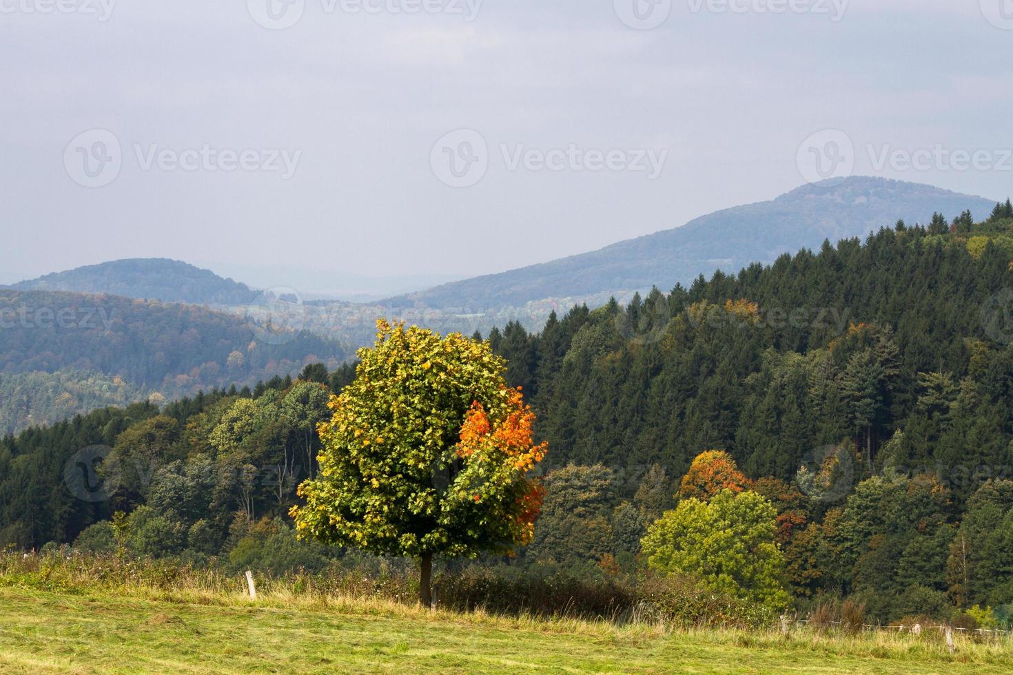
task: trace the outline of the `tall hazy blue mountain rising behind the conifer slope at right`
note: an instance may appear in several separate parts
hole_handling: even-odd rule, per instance
[[[458,312],[524,308],[552,298],[601,300],[657,286],[686,284],[717,269],[737,273],[753,262],[819,248],[825,240],[864,237],[899,219],[926,225],[933,213],[949,219],[970,210],[987,218],[996,202],[930,185],[854,177],[840,185],[799,187],[773,201],[735,206],[674,230],[598,251],[500,274],[446,283],[390,299],[391,309],[428,307]]]

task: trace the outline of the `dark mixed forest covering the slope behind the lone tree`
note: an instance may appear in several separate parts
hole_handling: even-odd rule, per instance
[[[899,222],[625,307],[576,307],[537,333],[476,334],[537,414],[544,502],[515,556],[443,565],[490,585],[632,578],[671,563],[658,522],[750,495],[776,518],[785,602],[1008,624],[1011,261],[1007,201],[985,223]],[[355,377],[314,363],[8,435],[0,546],[280,574],[374,566],[297,539],[290,517],[318,471],[317,424]]]

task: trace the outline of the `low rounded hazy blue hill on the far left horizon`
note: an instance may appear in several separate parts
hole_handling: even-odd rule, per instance
[[[113,260],[15,283],[18,290],[67,290],[193,305],[246,305],[259,294],[244,283],[165,258]]]

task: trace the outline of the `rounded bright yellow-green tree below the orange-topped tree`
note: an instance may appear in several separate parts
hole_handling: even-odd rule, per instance
[[[696,577],[708,588],[782,609],[784,557],[774,542],[777,511],[752,492],[725,490],[711,502],[685,499],[643,538],[648,566]]]

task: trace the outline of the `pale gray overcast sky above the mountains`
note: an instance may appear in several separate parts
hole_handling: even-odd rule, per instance
[[[501,271],[772,198],[824,130],[845,170],[1013,192],[1013,0],[293,1],[0,0],[0,282]]]

